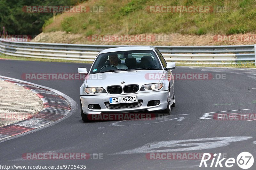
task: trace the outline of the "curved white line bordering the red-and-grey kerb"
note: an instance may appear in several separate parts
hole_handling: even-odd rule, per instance
[[[44,128],[50,127],[50,126],[52,126],[52,125],[55,125],[55,124],[57,124],[57,123],[59,123],[59,122],[65,120],[65,119],[67,119],[67,118],[68,118],[69,116],[71,116],[72,114],[74,114],[74,113],[76,112],[77,108],[78,108],[78,104],[76,103],[75,100],[73,100],[73,99],[72,99],[71,97],[69,97],[68,95],[66,95],[66,94],[64,94],[64,93],[62,93],[62,92],[60,92],[60,91],[57,91],[57,90],[55,90],[55,89],[52,89],[52,88],[50,88],[50,87],[46,87],[46,86],[43,86],[43,85],[38,85],[38,84],[35,84],[35,83],[31,83],[31,82],[24,81],[24,80],[20,80],[20,79],[16,79],[16,78],[1,76],[1,75],[0,75],[0,77],[12,79],[12,80],[15,80],[15,81],[19,81],[19,82],[22,82],[22,83],[27,83],[27,84],[30,84],[30,85],[35,85],[35,86],[37,86],[37,87],[41,87],[41,88],[50,90],[50,91],[52,91],[52,92],[54,92],[54,93],[56,93],[56,94],[62,96],[65,100],[68,101],[68,103],[69,103],[70,106],[71,106],[71,111],[68,113],[68,115],[64,116],[63,118],[61,118],[61,119],[59,119],[59,120],[57,120],[57,121],[55,121],[55,122],[49,123],[49,124],[47,124],[47,125],[45,125],[45,126],[42,126],[42,127],[40,127],[40,128],[33,129],[33,130],[28,131],[28,132],[24,132],[24,133],[22,133],[22,134],[15,135],[15,136],[13,136],[13,137],[8,137],[8,138],[6,138],[6,139],[0,140],[0,143],[1,143],[1,142],[4,142],[4,141],[7,141],[7,140],[11,140],[11,139],[17,138],[17,137],[21,137],[21,136],[24,136],[24,135],[28,135],[28,134],[30,134],[30,133],[33,133],[33,132],[42,130],[42,129],[44,129]]]

